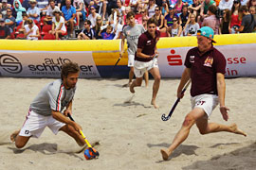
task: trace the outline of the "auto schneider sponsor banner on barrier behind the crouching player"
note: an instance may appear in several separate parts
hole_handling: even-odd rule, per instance
[[[0,51],[0,76],[60,77],[61,65],[77,62],[82,78],[101,77],[90,51]]]

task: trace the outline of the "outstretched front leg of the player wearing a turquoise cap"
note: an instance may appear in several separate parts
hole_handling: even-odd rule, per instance
[[[164,149],[161,149],[161,154],[163,160],[167,161],[168,158],[173,153],[174,149],[179,145],[182,144],[189,136],[191,127],[194,125],[195,121],[199,119],[200,117],[203,117],[205,115],[205,111],[199,108],[193,109],[187,116],[185,117],[185,120],[182,124],[182,127],[177,132],[177,134],[174,137],[173,143],[168,147],[167,151]]]

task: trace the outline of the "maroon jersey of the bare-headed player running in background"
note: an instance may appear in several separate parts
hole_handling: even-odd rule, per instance
[[[142,53],[145,55],[153,56],[155,54],[155,45],[159,40],[160,32],[158,30],[155,31],[155,39],[150,35],[148,31],[141,34],[137,41],[137,48],[142,49]],[[135,60],[147,62],[151,59],[139,58],[137,57],[137,53],[135,55]]]

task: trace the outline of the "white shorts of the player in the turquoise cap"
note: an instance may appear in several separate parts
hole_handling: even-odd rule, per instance
[[[192,110],[194,108],[202,108],[210,117],[212,110],[219,104],[218,95],[215,94],[201,94],[191,98]]]

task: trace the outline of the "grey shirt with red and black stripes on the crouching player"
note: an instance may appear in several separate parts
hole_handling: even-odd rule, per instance
[[[63,81],[57,79],[38,93],[30,104],[30,109],[44,116],[51,115],[52,110],[62,111],[73,99],[75,91],[76,87],[66,90]]]

